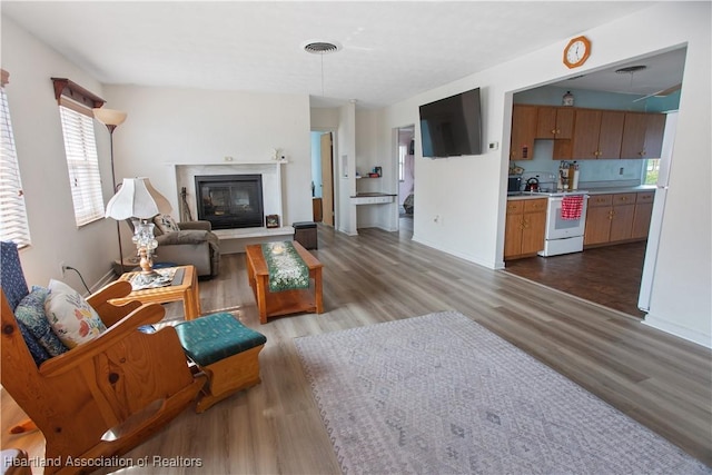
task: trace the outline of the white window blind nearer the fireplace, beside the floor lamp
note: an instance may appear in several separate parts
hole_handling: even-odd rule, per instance
[[[66,100],[62,100],[59,106],[77,226],[103,218],[101,176],[93,120],[91,110],[86,109],[85,112],[83,109]]]

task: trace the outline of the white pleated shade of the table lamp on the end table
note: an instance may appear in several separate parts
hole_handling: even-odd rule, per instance
[[[170,202],[150,184],[148,178],[123,178],[121,188],[107,204],[107,218],[149,219],[171,211]]]

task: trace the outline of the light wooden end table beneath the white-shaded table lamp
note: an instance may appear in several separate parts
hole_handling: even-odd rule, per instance
[[[123,298],[115,298],[112,304],[126,304],[127,301],[138,300],[141,304],[167,304],[169,301],[182,300],[182,309],[186,320],[192,320],[200,316],[200,294],[198,289],[198,276],[194,266],[176,267],[176,278],[174,284],[166,287],[148,288],[144,290],[134,290]],[[182,274],[179,279],[178,273]],[[129,280],[139,273],[126,273],[119,277],[119,280]]]

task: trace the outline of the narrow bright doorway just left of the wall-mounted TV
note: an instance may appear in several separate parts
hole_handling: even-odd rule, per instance
[[[398,230],[413,236],[415,214],[415,126],[399,127],[397,136]]]

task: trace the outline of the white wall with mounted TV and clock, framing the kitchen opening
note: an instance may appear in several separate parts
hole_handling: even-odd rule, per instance
[[[593,55],[575,71],[562,65],[568,38],[383,110],[383,127],[416,123],[414,239],[490,268],[503,267],[512,93],[688,44],[671,189],[646,323],[712,346],[710,3],[665,2],[589,31]],[[497,151],[427,160],[418,106],[475,87],[483,93],[484,142]],[[387,145],[380,144],[383,151]],[[437,220],[436,220],[437,218]]]

